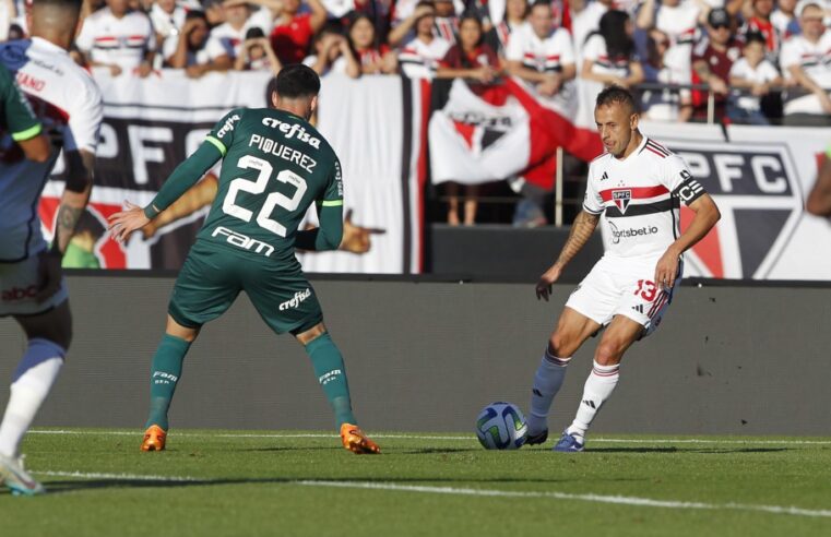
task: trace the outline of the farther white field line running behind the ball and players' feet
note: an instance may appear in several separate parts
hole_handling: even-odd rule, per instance
[[[80,435],[99,435],[99,437],[140,437],[141,431],[74,431],[67,429],[33,429],[28,431],[29,434],[80,434]],[[337,434],[327,433],[197,433],[197,432],[177,432],[177,437],[185,438],[339,438]],[[456,440],[476,442],[476,437],[471,433],[470,435],[432,435],[432,434],[370,434],[372,438],[387,438],[387,439],[407,439],[407,440]],[[621,443],[621,444],[758,444],[758,445],[831,445],[831,440],[762,440],[762,439],[747,439],[747,440],[717,440],[717,439],[625,439],[625,438],[594,438],[592,437],[590,443]]]

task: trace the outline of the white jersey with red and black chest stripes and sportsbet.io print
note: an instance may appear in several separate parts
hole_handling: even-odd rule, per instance
[[[680,202],[703,194],[681,157],[643,136],[627,158],[604,153],[591,163],[583,210],[606,218],[606,255],[653,258],[680,235]]]

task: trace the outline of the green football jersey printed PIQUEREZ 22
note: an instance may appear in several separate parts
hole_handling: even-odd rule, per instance
[[[297,227],[313,202],[342,205],[341,163],[308,121],[271,108],[238,108],[207,135],[223,155],[216,199],[198,239],[263,260],[293,260]]]

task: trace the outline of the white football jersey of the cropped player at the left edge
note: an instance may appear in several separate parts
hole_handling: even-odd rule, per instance
[[[0,44],[0,61],[15,74],[44,129],[63,133],[63,150],[95,153],[103,117],[100,90],[62,48],[39,37]],[[3,141],[0,159],[0,262],[46,248],[37,203],[56,158],[35,163]]]

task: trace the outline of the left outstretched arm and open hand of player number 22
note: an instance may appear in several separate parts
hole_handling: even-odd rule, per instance
[[[127,211],[109,217],[109,231],[112,239],[117,242],[128,240],[133,231],[146,226],[158,213],[181,198],[219,158],[222,158],[219,148],[211,142],[203,142],[195,153],[176,167],[150,205],[142,208],[124,202]]]

